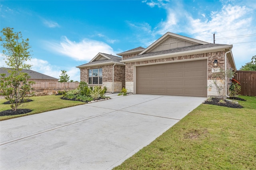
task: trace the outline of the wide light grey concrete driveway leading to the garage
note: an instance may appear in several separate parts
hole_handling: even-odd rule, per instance
[[[0,169],[112,169],[206,100],[110,96],[111,100],[1,121]]]

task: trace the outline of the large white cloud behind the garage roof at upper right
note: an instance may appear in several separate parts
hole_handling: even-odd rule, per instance
[[[255,55],[255,35],[251,37],[239,37],[240,35],[255,34],[255,15],[251,6],[223,5],[218,11],[212,11],[209,17],[202,14],[203,19],[193,18],[192,14],[183,8],[166,8],[167,19],[159,23],[156,34],[164,35],[166,32],[186,33],[190,37],[213,43],[234,44],[232,53],[239,69],[245,63],[251,61]],[[185,24],[184,24],[185,23]],[[227,37],[227,38],[224,38]],[[236,44],[238,43],[238,44]]]

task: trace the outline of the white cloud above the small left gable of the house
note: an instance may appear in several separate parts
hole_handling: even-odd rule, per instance
[[[83,39],[80,42],[70,41],[67,37],[62,37],[60,43],[45,42],[47,49],[55,51],[60,55],[71,57],[77,61],[90,61],[99,52],[115,54],[108,44],[92,39]]]

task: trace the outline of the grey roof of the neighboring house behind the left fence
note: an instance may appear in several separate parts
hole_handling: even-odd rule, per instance
[[[9,75],[8,70],[11,70],[11,68],[4,68],[4,67],[1,67],[1,68],[0,68],[1,74],[4,73],[4,74],[6,74],[6,76]],[[51,77],[51,76],[47,76],[47,75],[45,75],[45,74],[42,74],[42,73],[40,73],[40,72],[36,72],[36,71],[30,70],[30,69],[22,69],[21,72],[28,73],[28,75],[30,76],[29,79],[38,79],[38,80],[58,80],[58,78],[54,78],[54,77]]]

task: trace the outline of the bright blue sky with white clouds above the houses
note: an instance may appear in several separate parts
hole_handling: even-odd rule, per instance
[[[29,39],[32,70],[55,78],[66,70],[80,81],[76,66],[98,52],[146,48],[166,32],[210,43],[216,33],[216,43],[233,44],[237,69],[256,55],[256,1],[1,0],[0,10],[1,30]]]

